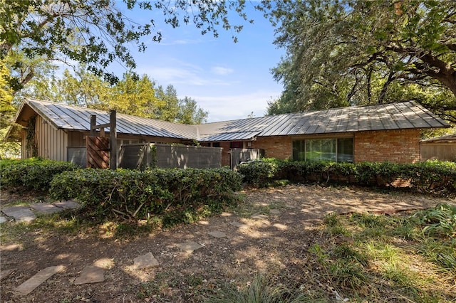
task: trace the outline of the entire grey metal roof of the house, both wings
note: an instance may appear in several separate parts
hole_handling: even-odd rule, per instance
[[[88,131],[90,115],[97,116],[97,124],[109,122],[108,112],[56,102],[26,99],[18,112],[18,116],[16,116],[16,123],[21,123],[20,116],[25,105],[31,107],[56,129]],[[24,123],[22,124],[25,126]],[[122,134],[193,139],[202,142],[430,127],[450,127],[450,124],[413,101],[296,112],[199,125],[177,124],[123,114],[117,115],[117,131]]]

